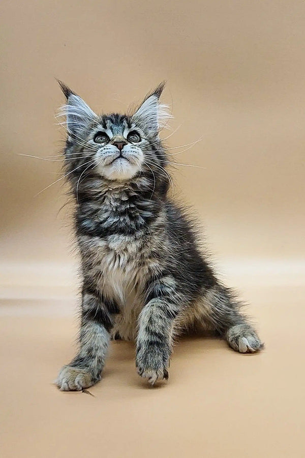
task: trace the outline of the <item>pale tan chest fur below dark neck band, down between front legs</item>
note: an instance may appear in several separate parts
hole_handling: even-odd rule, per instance
[[[82,236],[81,245],[86,251],[85,276],[94,279],[96,288],[106,297],[115,298],[119,305],[112,337],[134,340],[144,305],[145,283],[151,273],[160,271],[151,252],[151,237],[143,233],[114,234],[103,239]]]

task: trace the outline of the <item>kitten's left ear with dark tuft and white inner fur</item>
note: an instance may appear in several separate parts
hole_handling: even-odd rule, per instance
[[[97,119],[96,113],[62,81],[58,81],[66,96],[67,104],[59,110],[58,117],[65,116],[68,133],[79,133],[92,121]]]

